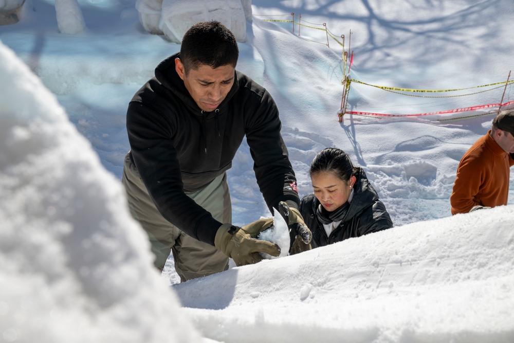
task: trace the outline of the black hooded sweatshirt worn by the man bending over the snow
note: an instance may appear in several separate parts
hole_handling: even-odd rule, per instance
[[[299,207],[295,174],[270,94],[236,71],[223,102],[215,111],[203,112],[175,71],[176,57],[157,66],[155,77],[128,105],[126,120],[132,159],[164,218],[190,236],[214,244],[222,223],[185,192],[201,189],[227,171],[245,135],[270,211],[280,201]]]

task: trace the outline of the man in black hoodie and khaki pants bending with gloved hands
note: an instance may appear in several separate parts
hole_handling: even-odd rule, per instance
[[[231,224],[226,171],[245,136],[268,208],[280,203],[288,221],[291,253],[310,249],[277,106],[235,70],[237,58],[225,26],[195,24],[128,105],[122,182],[131,213],[149,235],[155,266],[162,270],[172,251],[181,281],[221,272],[229,257],[245,265],[262,260],[259,251],[280,254],[255,239],[269,220]]]

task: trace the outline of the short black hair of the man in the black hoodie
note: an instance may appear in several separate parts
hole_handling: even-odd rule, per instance
[[[196,23],[182,38],[180,61],[186,75],[201,64],[211,68],[230,64],[235,68],[238,57],[234,34],[220,22]]]

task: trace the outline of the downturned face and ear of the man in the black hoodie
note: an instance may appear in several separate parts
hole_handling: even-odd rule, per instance
[[[184,65],[177,58],[175,69],[198,107],[206,112],[214,111],[234,84],[235,68],[230,64],[215,69],[201,64],[186,75]]]

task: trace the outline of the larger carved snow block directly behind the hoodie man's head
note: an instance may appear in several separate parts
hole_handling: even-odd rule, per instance
[[[186,31],[196,23],[218,21],[235,36],[246,41],[246,19],[241,0],[163,0],[159,28],[166,37],[180,43]]]

